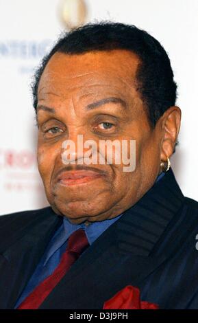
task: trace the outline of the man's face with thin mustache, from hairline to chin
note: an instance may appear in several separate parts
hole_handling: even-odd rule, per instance
[[[111,219],[153,185],[160,165],[160,130],[149,125],[137,91],[138,57],[132,52],[56,53],[38,87],[38,168],[47,199],[72,223]],[[121,164],[78,165],[62,161],[62,143],[136,140],[136,169]],[[106,158],[106,155],[104,155]]]

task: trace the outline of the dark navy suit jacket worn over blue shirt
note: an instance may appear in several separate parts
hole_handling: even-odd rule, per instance
[[[53,210],[0,216],[0,308],[13,309],[51,236]],[[198,309],[198,203],[183,196],[173,171],[93,243],[40,309],[102,309],[127,285],[160,309]]]

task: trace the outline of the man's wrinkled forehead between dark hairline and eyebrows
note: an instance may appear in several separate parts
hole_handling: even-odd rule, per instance
[[[38,100],[47,93],[65,96],[75,90],[131,91],[136,85],[139,63],[136,54],[119,49],[77,55],[55,53],[40,78]]]

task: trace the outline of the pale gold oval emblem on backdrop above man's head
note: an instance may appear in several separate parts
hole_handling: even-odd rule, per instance
[[[60,20],[71,30],[86,22],[87,7],[84,0],[62,0],[60,1]]]

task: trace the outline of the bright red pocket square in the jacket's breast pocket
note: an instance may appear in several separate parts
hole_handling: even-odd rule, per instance
[[[137,287],[126,286],[107,300],[103,309],[159,309],[159,307],[156,304],[141,301]]]

